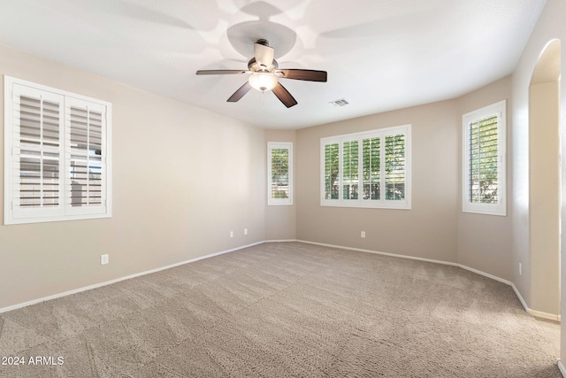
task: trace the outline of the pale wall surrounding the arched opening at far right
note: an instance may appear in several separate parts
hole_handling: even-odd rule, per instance
[[[513,73],[513,261],[512,273],[513,282],[516,288],[527,301],[527,305],[532,302],[531,290],[531,255],[530,255],[530,229],[529,229],[529,87],[532,83],[532,75],[539,62],[542,52],[545,50],[549,42],[554,39],[561,41],[566,40],[566,3],[563,0],[547,0],[536,27],[532,31],[532,35],[524,48],[523,54],[519,59],[515,72]],[[566,52],[561,49],[561,72],[566,72]],[[564,156],[564,147],[566,145],[566,81],[560,81],[560,127],[561,151]],[[562,177],[566,177],[566,165],[562,164]],[[566,185],[562,180],[562,198],[566,196]],[[566,208],[562,202],[562,219],[566,215]],[[566,245],[566,229],[565,223],[562,221],[562,246]],[[562,266],[566,264],[566,254],[563,249]],[[524,264],[527,270],[523,275],[518,274],[516,266],[518,263]],[[552,268],[552,267],[550,267]],[[562,305],[561,312],[566,313],[566,271],[562,269]],[[562,343],[561,343],[561,359],[566,360],[566,324],[562,322]]]

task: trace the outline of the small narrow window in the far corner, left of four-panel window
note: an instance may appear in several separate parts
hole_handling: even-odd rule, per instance
[[[293,204],[293,143],[267,143],[267,204]]]

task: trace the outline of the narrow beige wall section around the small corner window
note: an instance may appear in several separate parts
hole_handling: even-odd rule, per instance
[[[296,170],[296,140],[294,130],[265,130],[265,150],[268,142],[293,143],[294,172]],[[267,156],[265,156],[267,159]],[[267,180],[267,179],[266,179]],[[296,175],[293,177],[296,189]],[[267,182],[267,181],[266,181]],[[267,183],[266,183],[267,185]],[[267,194],[266,194],[267,196]],[[266,240],[294,240],[296,239],[296,191],[292,205],[267,205],[265,203],[265,239]]]

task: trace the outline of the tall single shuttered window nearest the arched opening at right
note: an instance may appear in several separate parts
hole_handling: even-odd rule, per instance
[[[463,115],[463,212],[506,215],[505,101]]]

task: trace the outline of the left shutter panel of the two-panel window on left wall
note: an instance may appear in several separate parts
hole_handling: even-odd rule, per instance
[[[61,213],[63,96],[26,86],[11,93],[11,200],[13,216],[53,216]]]

